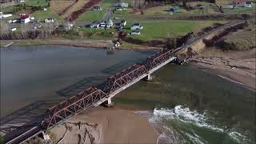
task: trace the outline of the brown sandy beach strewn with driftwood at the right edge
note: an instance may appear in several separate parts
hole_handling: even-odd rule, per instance
[[[256,48],[245,51],[226,52],[208,48],[202,54],[190,58],[190,62],[201,70],[256,90],[255,55]]]

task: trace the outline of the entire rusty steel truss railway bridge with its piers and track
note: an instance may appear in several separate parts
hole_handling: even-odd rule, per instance
[[[211,33],[216,32],[217,30],[225,29],[226,27],[241,24],[242,22],[243,21],[230,22],[219,27],[218,29],[212,30]],[[141,64],[134,64],[126,70],[122,70],[122,72],[111,76],[106,80],[106,82],[103,82],[101,86],[90,86],[73,97],[52,106],[46,111],[42,123],[39,126],[34,126],[32,129],[6,143],[25,142],[27,139],[34,137],[34,135],[43,133],[46,130],[50,130],[54,126],[57,126],[66,119],[71,118],[83,110],[93,106],[98,106],[103,102],[110,103],[111,98],[113,98],[114,95],[142,80],[142,78],[150,79],[150,74],[152,74],[155,70],[158,70],[167,63],[174,61],[177,58],[176,54],[179,51],[190,47],[194,42],[205,38],[208,34],[203,34],[198,38],[194,38],[192,42],[186,43],[185,46],[178,47],[175,50],[160,50],[158,53],[146,58],[145,62],[142,62]]]

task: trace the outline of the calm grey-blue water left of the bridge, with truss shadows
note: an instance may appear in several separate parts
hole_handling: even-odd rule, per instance
[[[1,49],[1,116],[51,106],[153,52],[70,46]]]

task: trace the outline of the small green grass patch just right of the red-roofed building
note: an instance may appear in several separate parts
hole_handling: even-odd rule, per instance
[[[32,15],[35,19],[38,19],[38,21],[44,21],[46,18],[56,18],[58,21],[62,21],[62,18],[60,18],[58,14],[51,13],[49,9],[47,9],[46,11],[38,10]]]

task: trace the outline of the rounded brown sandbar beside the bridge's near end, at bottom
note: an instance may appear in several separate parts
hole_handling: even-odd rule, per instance
[[[60,143],[156,143],[158,139],[154,127],[141,115],[101,106],[74,116],[51,133],[56,134],[55,141],[62,139]]]

